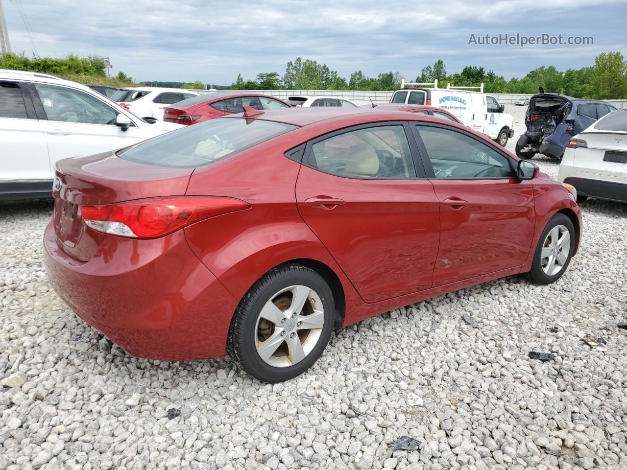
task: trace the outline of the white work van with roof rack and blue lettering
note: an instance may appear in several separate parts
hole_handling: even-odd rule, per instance
[[[433,88],[423,88],[425,85]],[[474,89],[479,91],[472,91]],[[433,83],[401,80],[401,88],[394,91],[390,103],[441,108],[455,115],[463,125],[489,135],[503,147],[508,138],[514,137],[514,117],[504,112],[505,106],[495,97],[483,93],[483,83],[481,86],[451,86],[448,83],[446,88],[438,88],[437,80]]]

